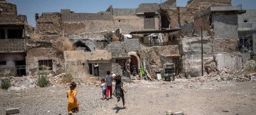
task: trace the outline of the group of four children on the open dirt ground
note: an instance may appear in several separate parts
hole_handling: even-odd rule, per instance
[[[113,74],[112,74],[113,75]],[[125,98],[124,93],[127,93],[127,91],[123,88],[123,83],[121,81],[121,76],[112,76],[110,74],[110,71],[107,71],[107,76],[105,76],[105,79],[101,80],[102,87],[102,100],[109,100],[108,96],[110,93],[110,98],[112,98],[112,81],[116,81],[115,90],[114,90],[114,96],[117,98],[116,106],[118,105],[118,102],[122,98],[123,107],[125,108]],[[79,102],[76,98],[76,83],[72,82],[70,84],[70,90],[67,91],[67,98],[68,98],[68,104],[67,104],[67,110],[68,115],[74,115],[73,113],[79,112]]]

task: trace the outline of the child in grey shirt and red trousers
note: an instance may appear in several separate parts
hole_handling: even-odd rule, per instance
[[[110,71],[108,70],[107,76],[105,76],[105,81],[107,84],[107,94],[106,94],[107,100],[109,100],[108,98],[109,92],[110,92],[110,98],[112,98],[112,79],[113,79],[113,76],[110,75]]]

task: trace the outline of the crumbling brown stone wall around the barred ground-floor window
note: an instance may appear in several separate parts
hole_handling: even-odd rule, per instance
[[[63,48],[62,42],[48,42],[41,40],[26,39],[26,74],[30,76],[37,75],[40,71],[38,69],[39,60],[52,60],[52,70],[46,71],[57,75],[64,73],[64,60],[62,53],[59,53],[56,48]]]

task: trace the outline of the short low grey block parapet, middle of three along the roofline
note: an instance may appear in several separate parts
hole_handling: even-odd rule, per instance
[[[136,16],[136,8],[113,8],[113,16]]]

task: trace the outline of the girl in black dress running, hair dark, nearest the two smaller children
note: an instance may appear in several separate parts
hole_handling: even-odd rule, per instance
[[[115,90],[116,90],[116,106],[118,105],[118,102],[120,101],[120,98],[122,98],[122,102],[123,102],[123,107],[125,108],[125,95],[124,93],[126,93],[127,91],[125,91],[124,87],[123,87],[123,82],[121,81],[121,76],[116,76],[114,78],[114,80],[116,81],[116,86],[115,86]]]

